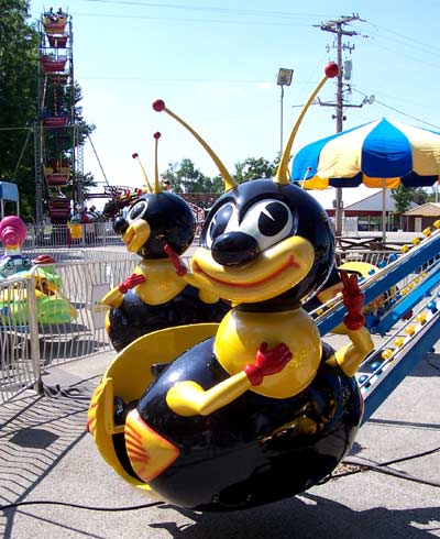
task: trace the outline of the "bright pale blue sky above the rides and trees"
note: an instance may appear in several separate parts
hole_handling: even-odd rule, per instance
[[[50,4],[32,1],[38,19]],[[334,34],[323,22],[358,13],[344,37],[354,46],[351,97],[344,129],[387,117],[440,131],[440,44],[437,0],[72,0],[61,6],[73,16],[75,79],[84,117],[96,130],[91,140],[107,180],[141,185],[138,152],[154,175],[153,133],[160,131],[160,172],[190,158],[208,176],[217,168],[199,144],[168,116],[152,110],[162,98],[196,129],[227,168],[248,157],[272,161],[280,146],[280,67],[295,70],[285,88],[284,142],[308,96],[336,61]],[[336,82],[320,92],[334,102]],[[336,131],[334,109],[310,107],[293,153]],[[85,170],[106,178],[90,144]],[[344,189],[344,199],[345,191]],[[355,191],[355,189],[351,189]],[[348,195],[358,198],[354,193]]]

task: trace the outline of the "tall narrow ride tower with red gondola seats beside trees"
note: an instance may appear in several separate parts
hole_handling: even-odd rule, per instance
[[[66,224],[82,205],[81,145],[75,113],[72,16],[59,8],[40,21],[38,119],[35,124],[35,221]],[[67,193],[66,193],[67,191]]]

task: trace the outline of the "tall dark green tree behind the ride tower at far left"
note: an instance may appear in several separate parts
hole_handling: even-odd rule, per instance
[[[81,90],[76,82],[66,87],[57,85],[54,91],[54,82],[47,77],[45,102],[38,110],[40,33],[35,22],[30,21],[29,6],[29,0],[0,0],[0,180],[18,185],[24,220],[35,216],[33,142],[40,132],[34,129],[40,114],[68,113],[75,124],[75,135],[72,128],[63,135],[45,131],[43,147],[47,160],[67,160],[95,129],[82,118],[78,107]],[[86,193],[95,184],[90,174],[82,177],[78,170],[70,175],[70,180]]]

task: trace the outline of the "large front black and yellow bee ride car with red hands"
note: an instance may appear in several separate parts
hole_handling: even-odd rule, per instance
[[[163,101],[154,108],[187,127]],[[233,308],[219,326],[135,341],[90,405],[88,427],[102,457],[132,484],[182,507],[243,509],[300,493],[332,472],[361,421],[353,375],[373,346],[363,297],[356,276],[343,274],[351,342],[339,351],[323,344],[301,301],[324,284],[334,239],[322,208],[287,178],[292,141],[274,180],[241,185],[204,142],[227,191],[207,217],[186,278]]]

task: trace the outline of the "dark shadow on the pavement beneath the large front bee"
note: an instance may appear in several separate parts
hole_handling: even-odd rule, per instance
[[[341,485],[341,487],[343,487]],[[163,506],[165,509],[167,506]],[[414,509],[373,509],[356,512],[343,504],[316,494],[306,493],[298,497],[272,504],[264,508],[231,514],[195,514],[183,512],[194,524],[179,527],[164,520],[151,522],[154,529],[165,529],[178,539],[257,539],[257,538],[301,538],[301,539],[378,539],[411,538],[432,539],[432,525],[439,518],[439,507]],[[417,526],[428,526],[420,529]]]

